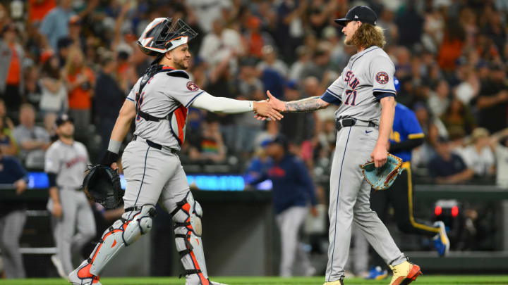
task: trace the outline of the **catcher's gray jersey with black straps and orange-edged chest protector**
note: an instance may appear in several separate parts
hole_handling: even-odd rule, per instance
[[[140,82],[141,78],[128,94],[128,100],[135,102]],[[168,116],[169,120],[154,122],[138,116],[134,134],[162,146],[180,149],[185,139],[188,106],[204,92],[183,70],[157,73],[148,80],[135,103],[143,112],[157,118]]]

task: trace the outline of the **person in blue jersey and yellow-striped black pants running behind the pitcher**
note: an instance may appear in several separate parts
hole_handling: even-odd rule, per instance
[[[385,222],[389,208],[392,206],[397,227],[401,232],[433,237],[437,253],[444,256],[449,251],[449,239],[444,223],[441,221],[432,223],[416,219],[413,216],[411,151],[423,144],[424,136],[415,113],[401,103],[397,103],[392,133],[389,137],[389,153],[403,160],[402,168],[404,170],[387,191],[373,191],[370,195],[370,208],[375,210],[380,219]],[[378,260],[378,263],[382,264],[381,261]],[[386,276],[387,270],[382,270],[378,266],[370,272],[368,278],[382,279]]]

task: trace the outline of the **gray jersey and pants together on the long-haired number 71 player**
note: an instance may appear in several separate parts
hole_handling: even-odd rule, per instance
[[[339,120],[354,118],[379,125],[379,100],[396,94],[394,72],[387,53],[379,46],[371,46],[351,56],[339,79],[321,99],[340,104],[335,113]],[[370,184],[363,179],[358,165],[370,160],[379,132],[376,127],[363,125],[342,127],[337,133],[330,175],[326,281],[337,281],[344,276],[353,222],[387,264],[398,265],[406,260],[385,224],[370,209]]]

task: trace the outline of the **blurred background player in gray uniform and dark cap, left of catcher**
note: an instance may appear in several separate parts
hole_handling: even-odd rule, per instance
[[[81,191],[89,162],[86,147],[74,141],[74,125],[68,115],[56,119],[59,140],[49,146],[44,171],[49,178],[48,210],[52,213],[56,255],[52,262],[61,277],[74,266],[72,256],[95,237],[95,220],[88,199]]]

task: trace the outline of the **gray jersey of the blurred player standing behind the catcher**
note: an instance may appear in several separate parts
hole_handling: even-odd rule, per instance
[[[58,140],[46,151],[44,171],[56,173],[59,188],[78,189],[83,184],[88,162],[85,145],[79,141],[68,145]]]

